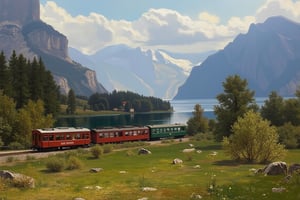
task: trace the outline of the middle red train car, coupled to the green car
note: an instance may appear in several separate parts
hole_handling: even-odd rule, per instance
[[[91,137],[94,144],[142,141],[149,140],[150,132],[148,127],[112,127],[92,129]]]

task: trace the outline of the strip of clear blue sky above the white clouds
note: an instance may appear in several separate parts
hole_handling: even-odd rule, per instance
[[[47,0],[41,0],[45,4]],[[109,19],[136,20],[150,8],[168,8],[184,15],[197,17],[207,11],[220,15],[224,20],[231,16],[253,15],[265,0],[54,0],[73,15],[100,13]]]

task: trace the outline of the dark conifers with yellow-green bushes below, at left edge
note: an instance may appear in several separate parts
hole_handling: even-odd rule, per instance
[[[31,131],[52,127],[60,109],[59,87],[40,58],[0,53],[0,146],[29,148]]]

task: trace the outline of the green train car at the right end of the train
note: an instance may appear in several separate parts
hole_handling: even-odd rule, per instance
[[[186,135],[185,124],[160,124],[147,127],[150,129],[150,140],[182,138]]]

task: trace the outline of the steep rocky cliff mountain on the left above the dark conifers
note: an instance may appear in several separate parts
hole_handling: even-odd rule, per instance
[[[0,51],[9,59],[13,50],[28,59],[41,57],[62,93],[107,92],[95,71],[70,59],[67,38],[40,20],[39,0],[0,1]]]

